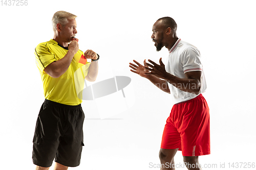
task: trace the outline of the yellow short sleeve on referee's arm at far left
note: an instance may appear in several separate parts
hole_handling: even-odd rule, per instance
[[[42,71],[43,74],[46,74],[44,69],[49,64],[56,61],[55,55],[51,53],[47,43],[46,44],[40,43],[36,46],[35,58],[36,58],[36,65]]]

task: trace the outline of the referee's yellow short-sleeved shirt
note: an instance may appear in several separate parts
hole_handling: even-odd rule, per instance
[[[44,69],[54,61],[60,60],[68,53],[68,48],[61,47],[51,39],[38,44],[35,48],[36,65],[39,69],[44,94],[47,100],[65,104],[79,105],[82,103],[84,78],[88,74],[90,62],[87,62],[82,51],[73,57],[68,70],[59,78],[52,78]]]

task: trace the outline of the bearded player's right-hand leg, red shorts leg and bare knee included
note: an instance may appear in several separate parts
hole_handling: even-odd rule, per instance
[[[198,156],[210,154],[209,108],[200,94],[182,104],[181,144],[184,164],[190,169],[202,169]],[[184,119],[186,117],[186,119]]]

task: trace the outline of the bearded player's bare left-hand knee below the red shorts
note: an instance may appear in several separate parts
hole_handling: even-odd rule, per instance
[[[174,156],[178,149],[160,149],[159,158],[161,162],[161,170],[175,169]]]

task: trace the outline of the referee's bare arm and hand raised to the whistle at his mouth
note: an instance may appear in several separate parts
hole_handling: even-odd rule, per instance
[[[70,66],[72,58],[78,52],[79,46],[76,40],[69,44],[68,53],[60,60],[54,61],[45,68],[45,72],[52,78],[58,78],[63,75]]]

